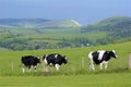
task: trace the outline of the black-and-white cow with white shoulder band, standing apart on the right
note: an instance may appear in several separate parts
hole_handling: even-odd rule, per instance
[[[103,64],[105,65],[105,69],[108,66],[108,61],[110,58],[117,58],[115,50],[106,51],[106,50],[98,50],[93,51],[88,53],[90,58],[90,70],[95,70],[95,64],[100,64],[100,70],[103,69]]]

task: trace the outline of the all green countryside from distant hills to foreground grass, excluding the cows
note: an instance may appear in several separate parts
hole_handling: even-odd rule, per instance
[[[0,25],[0,87],[131,87],[130,18],[111,17],[87,26],[78,26],[74,21],[17,21]],[[88,70],[87,53],[95,50],[116,50],[118,58],[109,61],[107,70],[100,71],[95,65],[93,72]],[[52,66],[44,73],[41,62],[37,72],[26,69],[22,73],[22,55],[43,59],[49,53],[67,55],[69,63],[61,65],[59,72]]]

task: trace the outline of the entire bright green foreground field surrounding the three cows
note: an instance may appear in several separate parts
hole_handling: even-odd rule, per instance
[[[128,70],[128,57],[131,53],[131,41],[111,44],[97,47],[64,48],[46,50],[9,51],[0,50],[0,87],[130,87],[131,71]],[[111,59],[107,70],[88,70],[87,53],[94,50],[116,50],[118,59]],[[37,72],[31,73],[21,70],[21,57],[26,54],[39,55],[60,53],[68,57],[69,64],[61,65],[57,72],[49,67],[48,73],[43,72],[43,64],[38,64]]]

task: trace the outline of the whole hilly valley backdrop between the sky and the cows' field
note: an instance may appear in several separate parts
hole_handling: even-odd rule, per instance
[[[74,20],[0,18],[0,48],[34,50],[131,40],[131,17],[112,16],[82,26]]]

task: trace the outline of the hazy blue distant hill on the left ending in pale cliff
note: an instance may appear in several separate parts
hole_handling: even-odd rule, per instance
[[[43,18],[0,18],[1,27],[43,28],[43,27],[80,27],[74,20],[43,20]]]

